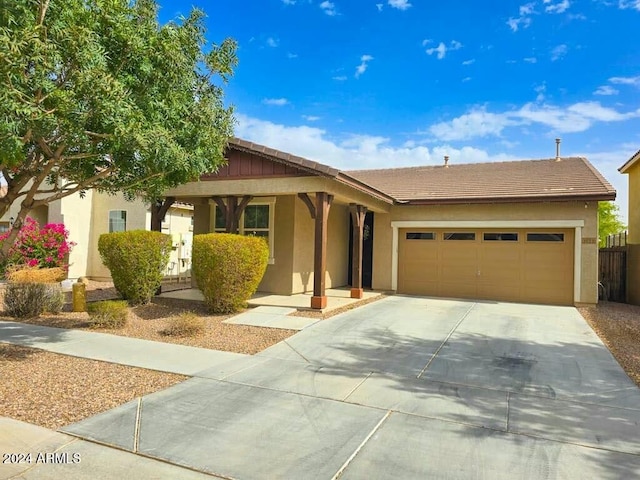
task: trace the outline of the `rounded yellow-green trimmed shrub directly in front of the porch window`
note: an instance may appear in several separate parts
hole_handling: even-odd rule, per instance
[[[193,238],[192,273],[214,313],[246,305],[267,268],[269,247],[260,237],[209,233]]]

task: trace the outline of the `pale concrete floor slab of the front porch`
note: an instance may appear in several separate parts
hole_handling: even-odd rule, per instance
[[[270,293],[258,292],[249,300],[250,308],[259,306],[269,307],[286,307],[295,308],[296,310],[312,310],[315,312],[329,313],[342,307],[354,305],[356,303],[378,297],[382,292],[365,291],[363,297],[351,298],[351,290],[349,288],[328,288],[325,291],[327,304],[322,309],[312,309],[310,307],[313,292],[299,293],[294,295],[273,295]],[[158,295],[159,298],[175,298],[179,300],[202,302],[204,297],[202,292],[197,288],[189,288],[184,290],[175,290],[173,292],[165,292]]]

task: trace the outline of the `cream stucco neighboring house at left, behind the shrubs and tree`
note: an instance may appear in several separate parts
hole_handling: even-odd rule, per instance
[[[0,218],[0,231],[6,231],[19,210],[13,205]],[[123,195],[108,195],[87,190],[79,194],[41,206],[29,214],[40,226],[63,223],[69,230],[69,240],[76,243],[69,256],[69,278],[86,276],[95,280],[109,280],[111,275],[102,264],[98,252],[100,235],[123,230],[148,230],[151,225],[149,207],[140,200],[127,201]],[[186,276],[191,268],[191,240],[193,237],[193,207],[174,204],[162,224],[162,232],[172,235],[173,249],[167,265],[169,276]]]

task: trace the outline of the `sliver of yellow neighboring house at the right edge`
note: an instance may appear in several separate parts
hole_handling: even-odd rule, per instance
[[[629,175],[627,302],[640,305],[640,150],[618,171]]]

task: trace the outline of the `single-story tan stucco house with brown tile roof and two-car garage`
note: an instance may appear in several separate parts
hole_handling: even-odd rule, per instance
[[[339,171],[232,139],[228,164],[171,189],[194,233],[265,237],[259,290],[352,285],[412,295],[597,303],[598,202],[615,190],[584,158]]]

